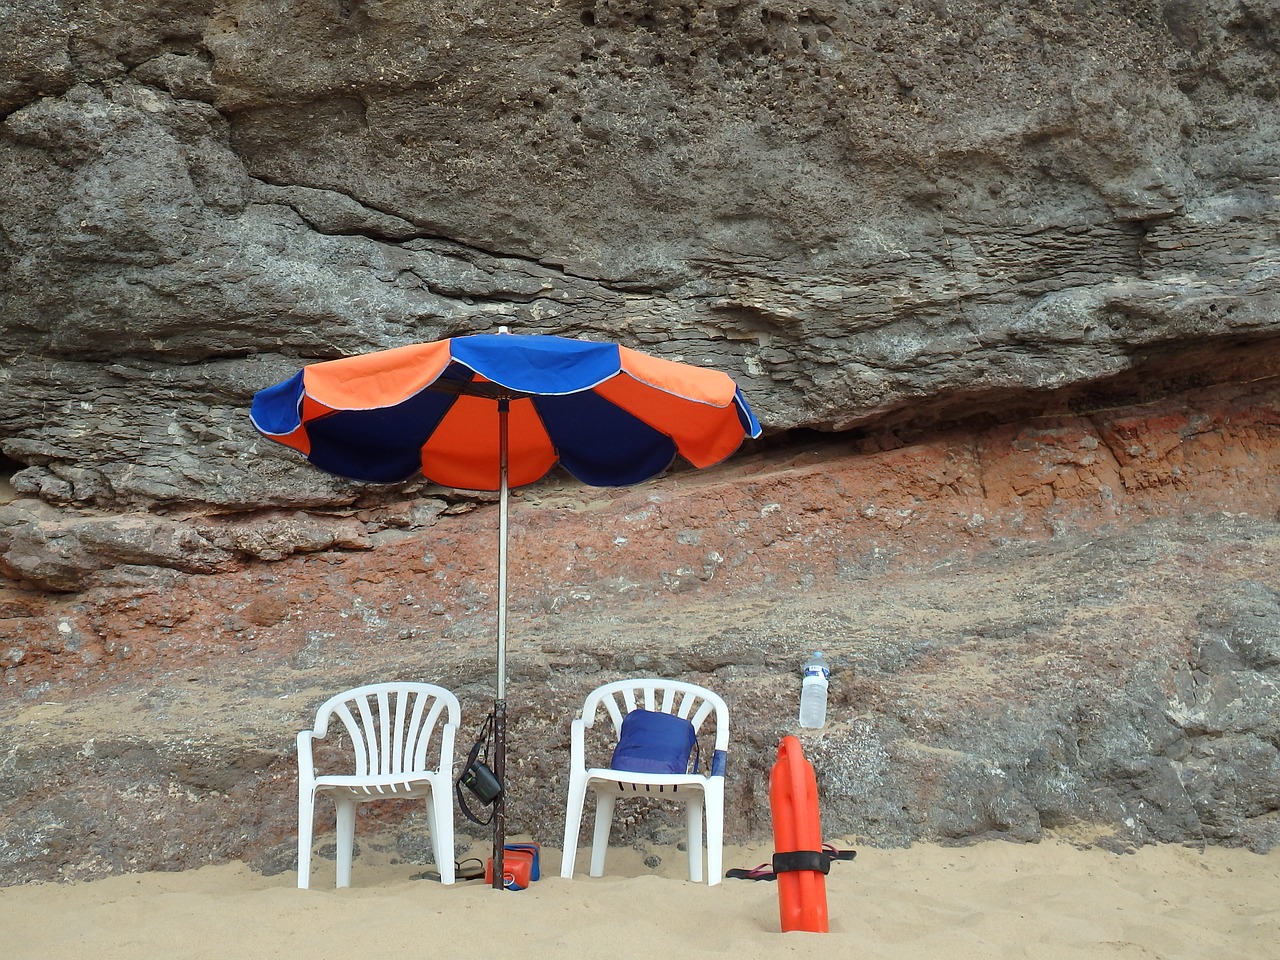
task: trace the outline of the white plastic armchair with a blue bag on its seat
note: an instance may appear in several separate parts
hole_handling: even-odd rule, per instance
[[[634,773],[608,767],[586,765],[586,730],[595,726],[599,708],[613,721],[613,740],[622,731],[622,718],[635,709],[660,710],[685,717],[701,731],[708,717],[716,717],[716,749],[709,774]],[[678,680],[620,680],[596,687],[588,695],[581,716],[571,727],[568,801],[564,815],[564,852],[561,877],[573,877],[577,837],[582,822],[586,791],[595,791],[595,833],[591,841],[591,876],[604,874],[604,855],[609,846],[609,827],[618,797],[643,796],[685,804],[689,840],[689,879],[703,881],[703,815],[707,818],[708,884],[722,879],[724,847],[724,758],[728,750],[728,707],[717,694],[696,684]],[[705,758],[703,758],[705,759]]]

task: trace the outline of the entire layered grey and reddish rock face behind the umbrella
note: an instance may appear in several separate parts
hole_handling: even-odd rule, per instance
[[[279,865],[292,731],[346,681],[483,716],[486,500],[326,477],[246,411],[499,324],[723,367],[771,435],[521,497],[518,827],[558,838],[566,718],[643,669],[728,690],[767,831],[819,644],[828,832],[1268,846],[1277,22],[0,8],[0,882]]]

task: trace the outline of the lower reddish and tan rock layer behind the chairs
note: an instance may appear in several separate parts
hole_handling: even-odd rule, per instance
[[[634,489],[517,492],[511,829],[558,842],[568,719],[596,684],[657,673],[726,692],[730,836],[767,837],[796,671],[823,649],[829,723],[804,742],[831,836],[1270,847],[1274,397],[1215,387],[879,451],[814,435]],[[6,876],[288,869],[293,735],[370,678],[448,685],[474,736],[494,508],[408,503],[269,564],[8,591]],[[361,829],[379,827],[430,861],[417,808]],[[682,829],[643,808],[617,842],[660,855]]]

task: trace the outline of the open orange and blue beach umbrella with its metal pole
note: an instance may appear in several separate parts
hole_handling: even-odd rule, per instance
[[[506,773],[507,490],[559,463],[593,486],[728,457],[760,425],[724,372],[616,343],[472,334],[311,364],[253,397],[265,436],[314,466],[366,483],[421,474],[498,492],[498,644],[493,771]],[[494,809],[493,883],[502,886],[503,791]]]

